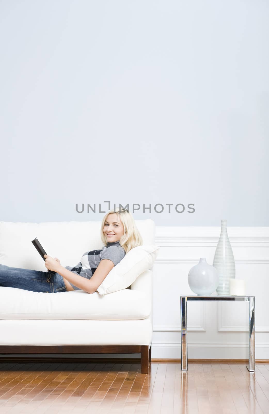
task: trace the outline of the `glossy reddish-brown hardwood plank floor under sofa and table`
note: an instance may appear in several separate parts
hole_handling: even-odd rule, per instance
[[[0,364],[0,413],[269,413],[269,363]]]

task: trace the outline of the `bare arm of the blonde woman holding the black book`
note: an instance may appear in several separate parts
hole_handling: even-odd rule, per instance
[[[102,281],[107,277],[110,270],[114,267],[112,260],[103,259],[97,266],[93,276],[90,279],[86,279],[85,277],[79,276],[79,274],[65,269],[65,267],[62,267],[57,260],[53,259],[49,255],[44,255],[44,258],[46,259],[45,266],[48,270],[54,270],[64,277],[64,279],[67,279],[68,282],[71,282],[79,289],[82,289],[88,293],[94,293]]]

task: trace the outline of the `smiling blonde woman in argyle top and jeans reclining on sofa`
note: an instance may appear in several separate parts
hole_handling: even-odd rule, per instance
[[[125,254],[143,244],[131,213],[125,209],[112,210],[105,215],[101,239],[105,247],[84,253],[81,262],[75,267],[62,267],[59,259],[49,255],[44,255],[48,272],[0,265],[0,286],[35,292],[57,293],[82,289],[94,293]]]

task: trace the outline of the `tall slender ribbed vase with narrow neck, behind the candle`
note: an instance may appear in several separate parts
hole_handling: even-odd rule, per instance
[[[219,275],[219,285],[216,290],[217,294],[222,296],[229,296],[230,279],[236,278],[236,264],[226,224],[227,220],[221,220],[221,232],[213,260],[213,266]]]

